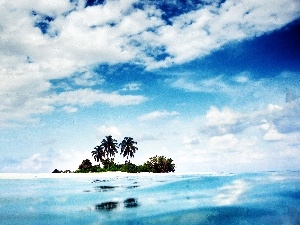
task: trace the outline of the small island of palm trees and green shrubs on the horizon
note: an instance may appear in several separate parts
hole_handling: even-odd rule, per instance
[[[118,143],[111,135],[105,136],[99,146],[96,146],[91,152],[93,158],[98,163],[93,165],[89,159],[85,159],[79,165],[74,173],[100,173],[108,171],[121,171],[127,173],[169,173],[175,172],[173,159],[165,156],[155,155],[150,157],[144,164],[135,165],[130,161],[138,150],[137,142],[131,137],[125,137],[121,143]],[[121,150],[120,155],[126,158],[124,164],[115,163],[115,155]],[[72,173],[70,170],[53,170],[52,173]]]

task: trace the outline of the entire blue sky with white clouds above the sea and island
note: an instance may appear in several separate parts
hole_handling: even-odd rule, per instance
[[[300,169],[298,0],[2,0],[0,14],[0,172],[96,164],[107,135],[176,172]]]

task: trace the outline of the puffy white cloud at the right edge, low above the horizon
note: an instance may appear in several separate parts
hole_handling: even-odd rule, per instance
[[[264,109],[248,113],[211,107],[201,120],[199,132],[213,138],[212,146],[225,137],[234,143],[233,135],[256,136],[262,141],[281,141],[297,145],[299,141],[295,137],[300,134],[299,102],[284,103],[281,106],[269,104]]]

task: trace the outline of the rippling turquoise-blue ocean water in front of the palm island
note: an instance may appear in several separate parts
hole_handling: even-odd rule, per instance
[[[0,174],[0,224],[300,224],[300,171]]]

